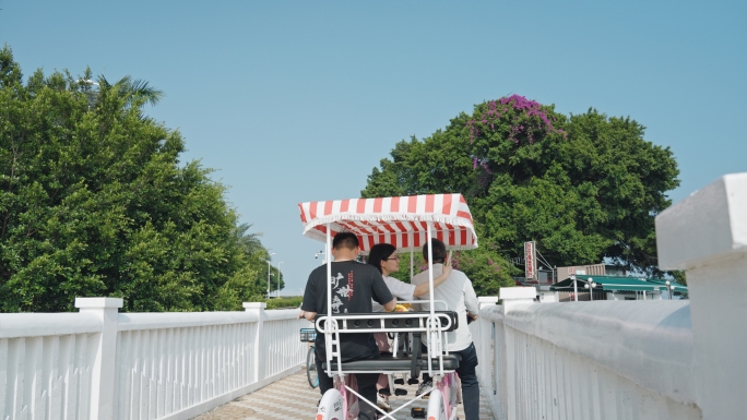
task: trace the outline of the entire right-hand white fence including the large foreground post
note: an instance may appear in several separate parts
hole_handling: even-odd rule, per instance
[[[498,420],[747,418],[747,173],[656,217],[662,269],[689,300],[535,303],[481,298],[471,325]]]

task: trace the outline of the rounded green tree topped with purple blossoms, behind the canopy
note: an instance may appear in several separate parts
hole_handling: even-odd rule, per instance
[[[520,256],[534,240],[556,265],[616,263],[657,273],[654,217],[671,202],[672,152],[630,118],[567,118],[512,95],[475,106],[446,130],[402,141],[364,196],[461,192],[483,238]],[[481,239],[483,239],[481,238]]]

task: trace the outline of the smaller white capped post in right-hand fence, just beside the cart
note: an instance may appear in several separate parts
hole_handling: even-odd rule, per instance
[[[508,420],[517,420],[517,380],[514,371],[515,351],[513,351],[515,339],[513,329],[506,326],[506,320],[512,308],[532,304],[536,296],[537,289],[534,286],[500,288],[500,299],[503,301],[503,345],[506,346],[503,351],[503,355],[506,355],[503,372],[506,372],[506,377],[498,377],[497,381],[505,381],[506,395],[503,395],[503,401]],[[496,361],[496,363],[499,363],[499,361]]]

